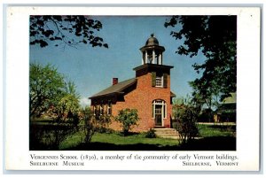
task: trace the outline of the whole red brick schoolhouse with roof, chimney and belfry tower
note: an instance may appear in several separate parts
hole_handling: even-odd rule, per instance
[[[136,77],[119,82],[113,78],[113,85],[90,97],[93,111],[99,110],[116,116],[121,109],[137,109],[140,120],[132,130],[146,131],[150,128],[170,128],[172,97],[170,90],[170,69],[163,65],[165,48],[151,35],[142,52],[142,65],[133,68]],[[112,120],[110,128],[121,130],[121,125]]]

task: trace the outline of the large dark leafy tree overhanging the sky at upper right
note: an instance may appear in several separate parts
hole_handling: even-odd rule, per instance
[[[236,91],[237,16],[173,16],[165,27],[176,27],[170,35],[184,39],[176,53],[192,58],[202,52],[207,58],[205,63],[193,65],[202,73],[191,82],[196,100],[211,105],[213,97],[223,100]]]

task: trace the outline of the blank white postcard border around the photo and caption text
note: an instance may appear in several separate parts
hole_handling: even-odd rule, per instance
[[[28,15],[238,15],[238,130],[237,151],[219,151],[239,157],[240,166],[178,166],[175,161],[88,161],[81,167],[29,166],[30,153],[41,155],[88,154],[88,151],[28,151]],[[153,11],[151,11],[153,10]],[[5,168],[9,170],[215,170],[258,171],[260,148],[260,9],[235,7],[8,7],[6,29],[5,83]],[[15,110],[14,110],[15,108]],[[15,112],[14,112],[15,111]],[[178,154],[215,155],[217,151],[120,151],[129,156]],[[116,155],[117,151],[90,151]],[[152,166],[153,165],[153,166]],[[223,169],[224,168],[224,169]]]

